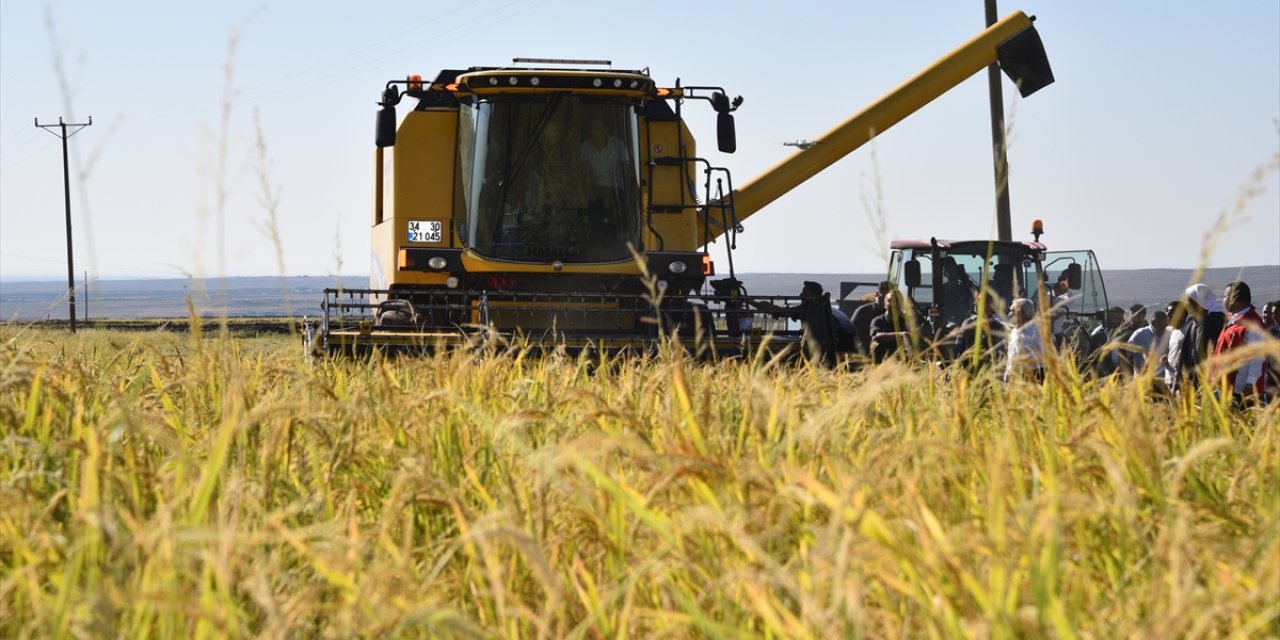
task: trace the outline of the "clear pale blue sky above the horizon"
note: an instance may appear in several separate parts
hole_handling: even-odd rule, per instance
[[[607,59],[741,95],[745,184],[984,27],[979,0],[4,0],[0,279],[369,273],[387,81],[513,58]],[[1005,81],[1015,238],[1103,268],[1277,265],[1280,3],[1000,3],[1037,17],[1055,84]],[[55,129],[56,131],[56,129]],[[746,221],[740,273],[876,273],[896,238],[996,234],[986,73]],[[274,239],[273,239],[274,232]],[[723,241],[710,247],[723,264]]]

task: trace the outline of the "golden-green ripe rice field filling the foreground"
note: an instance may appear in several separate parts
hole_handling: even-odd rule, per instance
[[[1277,436],[1069,362],[5,325],[0,636],[1276,637]]]

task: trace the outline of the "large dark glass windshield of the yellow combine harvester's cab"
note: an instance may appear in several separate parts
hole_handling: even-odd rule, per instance
[[[640,248],[637,124],[623,101],[567,93],[463,105],[467,244],[522,262],[613,262]]]

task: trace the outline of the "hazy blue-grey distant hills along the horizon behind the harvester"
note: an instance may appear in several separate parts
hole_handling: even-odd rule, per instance
[[[1103,274],[1107,298],[1128,307],[1134,302],[1164,307],[1179,298],[1190,282],[1190,269],[1107,270]],[[815,280],[840,293],[841,282],[877,282],[883,274],[739,274],[750,293],[795,296],[804,280]],[[1280,265],[1208,269],[1203,282],[1221,293],[1222,287],[1243,279],[1253,289],[1253,300],[1280,300]],[[358,289],[369,285],[365,276],[297,278],[221,278],[99,280],[77,289],[77,315],[96,319],[187,317],[187,301],[206,317],[228,316],[316,316],[325,288]],[[855,291],[854,296],[869,288]],[[58,282],[0,282],[0,319],[65,319],[65,287]],[[86,310],[87,306],[87,310]]]

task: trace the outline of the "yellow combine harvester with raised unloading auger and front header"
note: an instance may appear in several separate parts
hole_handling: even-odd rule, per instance
[[[733,152],[742,99],[721,87],[659,87],[646,70],[608,61],[526,59],[388,82],[371,284],[325,292],[311,346],[617,351],[673,339],[722,356],[794,347],[797,323],[754,308],[794,300],[748,296],[732,252],[728,278],[709,279],[708,244],[997,61],[1024,97],[1053,82],[1033,19],[1015,12],[739,188],[698,155],[681,115],[708,102],[718,148]],[[398,119],[404,99],[412,110]]]

